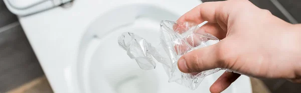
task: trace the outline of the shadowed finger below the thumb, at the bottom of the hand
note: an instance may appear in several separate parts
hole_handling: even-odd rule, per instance
[[[210,92],[222,92],[241,74],[225,71],[210,87]]]

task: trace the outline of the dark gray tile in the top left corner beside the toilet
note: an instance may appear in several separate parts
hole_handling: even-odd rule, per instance
[[[0,27],[17,20],[17,16],[8,10],[3,0],[0,0]]]

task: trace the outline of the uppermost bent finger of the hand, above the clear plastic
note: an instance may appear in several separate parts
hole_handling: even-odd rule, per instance
[[[204,2],[200,5],[194,7],[190,11],[182,15],[177,22],[192,22],[195,24],[200,24],[204,21],[210,23],[218,23],[222,29],[227,30],[228,20],[237,18],[239,15],[238,11],[259,9],[254,7],[248,0],[225,0],[225,1],[212,1]],[[233,21],[229,21],[231,23]]]

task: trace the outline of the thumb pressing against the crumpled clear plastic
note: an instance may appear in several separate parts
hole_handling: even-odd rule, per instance
[[[224,63],[221,58],[220,42],[184,54],[178,60],[179,69],[190,73],[221,67]]]

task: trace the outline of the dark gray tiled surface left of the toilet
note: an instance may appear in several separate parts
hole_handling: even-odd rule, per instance
[[[43,74],[17,16],[0,0],[0,92]]]

